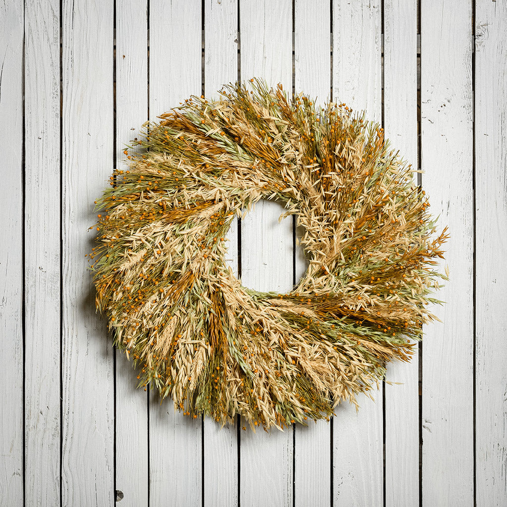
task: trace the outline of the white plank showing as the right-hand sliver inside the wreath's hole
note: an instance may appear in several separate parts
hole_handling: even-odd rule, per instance
[[[294,4],[296,93],[303,91],[324,105],[331,93],[331,9],[327,0]],[[307,268],[304,251],[296,251],[296,282]],[[294,429],[294,500],[296,506],[331,501],[331,425],[326,421]]]

